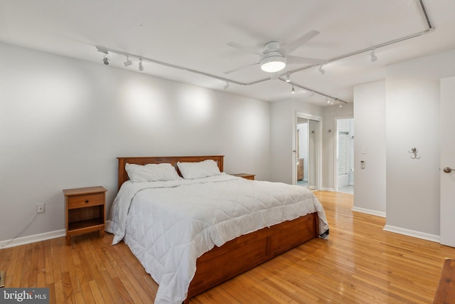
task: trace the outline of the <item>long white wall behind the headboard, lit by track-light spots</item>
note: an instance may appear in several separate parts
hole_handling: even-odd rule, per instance
[[[269,179],[269,103],[0,44],[0,241],[64,229],[62,189],[117,192],[120,156],[224,154]],[[6,229],[6,227],[8,227]]]

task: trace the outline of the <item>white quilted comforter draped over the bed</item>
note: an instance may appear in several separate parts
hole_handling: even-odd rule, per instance
[[[169,182],[125,182],[112,204],[106,231],[124,239],[159,283],[155,303],[182,303],[196,259],[242,234],[323,208],[307,189],[228,174]],[[326,237],[326,234],[324,234]]]

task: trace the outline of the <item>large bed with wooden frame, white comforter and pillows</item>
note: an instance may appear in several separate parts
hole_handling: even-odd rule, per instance
[[[328,237],[326,216],[312,192],[224,174],[223,158],[222,155],[117,158],[119,193],[112,204],[106,231],[114,234],[113,244],[123,239],[159,283],[155,303],[188,303],[193,296],[284,251],[310,239]],[[205,162],[214,162],[218,173],[204,178],[181,178],[181,169],[185,169],[188,177],[183,164]],[[132,182],[127,172],[127,166],[132,164],[171,164],[179,179]],[[276,192],[272,192],[274,187]],[[265,196],[265,192],[272,196]],[[298,192],[295,197],[294,192]],[[303,197],[308,201],[305,204]],[[267,208],[261,209],[257,201]],[[187,213],[191,213],[191,219],[186,217]],[[215,223],[214,219],[220,220]],[[208,221],[213,221],[212,226],[206,224]],[[230,221],[233,224],[228,224]],[[182,225],[183,232],[178,231]],[[199,232],[192,232],[197,229]],[[164,248],[158,248],[161,247],[158,244]]]

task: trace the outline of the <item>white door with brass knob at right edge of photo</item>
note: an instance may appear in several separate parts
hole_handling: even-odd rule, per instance
[[[455,247],[455,77],[441,79],[440,121],[441,244]]]

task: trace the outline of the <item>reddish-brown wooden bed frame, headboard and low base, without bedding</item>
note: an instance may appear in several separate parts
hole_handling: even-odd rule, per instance
[[[177,162],[200,162],[213,159],[223,172],[223,155],[186,156],[186,157],[117,157],[119,160],[119,188],[129,179],[125,164],[159,164],[168,162],[176,167]],[[177,171],[178,168],[176,167]],[[180,172],[178,171],[178,174]],[[228,281],[240,273],[264,263],[284,251],[299,246],[310,239],[317,238],[318,216],[316,213],[301,216],[293,221],[266,227],[239,236],[223,246],[215,246],[196,261],[196,274],[188,288],[184,303],[199,293],[215,285]]]

